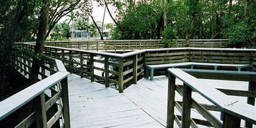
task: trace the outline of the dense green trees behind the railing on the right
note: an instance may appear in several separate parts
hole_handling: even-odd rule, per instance
[[[234,47],[255,47],[253,0],[110,2],[118,12],[114,39],[228,38]]]

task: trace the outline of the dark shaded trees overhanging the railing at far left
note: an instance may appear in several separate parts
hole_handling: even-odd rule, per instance
[[[55,24],[72,11],[80,16],[88,17],[92,10],[91,1],[86,0],[1,0],[0,6],[1,95],[9,92],[10,89],[5,83],[5,74],[11,64],[11,58],[17,52],[14,43],[36,41],[29,76],[29,79],[35,82],[38,76],[40,56],[43,55],[44,42]]]

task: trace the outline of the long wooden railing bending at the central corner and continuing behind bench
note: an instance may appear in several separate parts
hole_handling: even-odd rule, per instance
[[[31,43],[22,44],[32,49],[34,46]],[[71,73],[106,87],[114,86],[119,92],[143,77],[145,65],[203,62],[248,64],[253,66],[253,70],[256,69],[256,50],[253,49],[155,48],[119,54],[45,46],[45,54],[62,60]]]

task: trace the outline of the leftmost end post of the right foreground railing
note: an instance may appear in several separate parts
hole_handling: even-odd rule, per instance
[[[168,82],[168,102],[167,102],[167,128],[174,127],[174,106],[175,106],[175,76],[169,74]]]

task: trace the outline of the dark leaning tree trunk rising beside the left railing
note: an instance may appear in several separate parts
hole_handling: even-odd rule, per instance
[[[48,26],[49,4],[48,4],[48,0],[42,0],[42,1],[43,1],[43,6],[41,8],[40,16],[39,16],[39,27],[38,27],[38,34],[36,38],[36,46],[35,46],[36,55],[43,55],[43,46],[45,43],[46,31]],[[41,60],[38,58],[33,58],[31,74],[29,75],[29,80],[31,84],[38,81],[38,73],[39,73],[40,65],[41,65]]]

